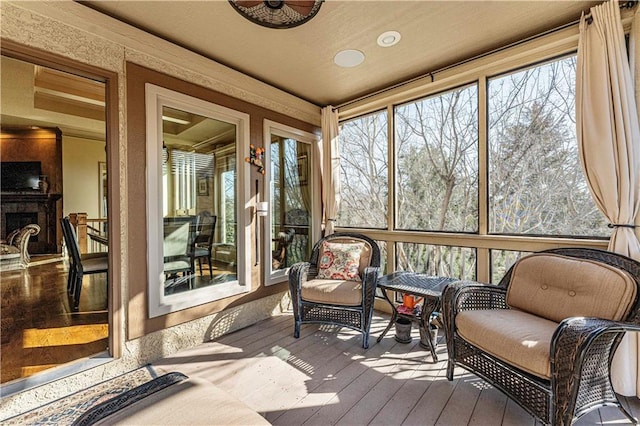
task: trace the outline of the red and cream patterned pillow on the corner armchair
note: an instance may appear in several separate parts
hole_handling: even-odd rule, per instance
[[[364,243],[323,242],[317,278],[361,281],[358,268],[363,248]]]

